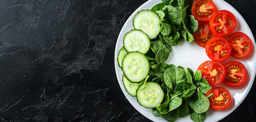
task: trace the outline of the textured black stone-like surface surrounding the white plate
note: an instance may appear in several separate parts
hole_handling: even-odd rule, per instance
[[[117,82],[114,49],[146,0],[0,1],[0,121],[150,121]],[[256,2],[227,0],[256,36]],[[221,121],[256,121],[256,85]]]

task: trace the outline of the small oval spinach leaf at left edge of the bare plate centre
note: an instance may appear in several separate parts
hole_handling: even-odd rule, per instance
[[[163,47],[160,48],[156,54],[156,62],[160,63],[160,62],[165,62],[168,57],[169,57],[170,51],[168,48]]]

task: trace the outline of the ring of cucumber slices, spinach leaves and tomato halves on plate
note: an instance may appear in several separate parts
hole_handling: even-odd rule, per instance
[[[246,69],[237,61],[222,64],[231,55],[248,56],[250,38],[233,32],[236,17],[216,8],[211,0],[162,0],[151,10],[141,10],[133,18],[134,29],[123,37],[117,61],[123,71],[123,85],[152,114],[167,121],[190,114],[193,121],[204,121],[209,107],[226,109],[231,103],[224,82],[239,87],[246,81]],[[194,72],[164,63],[172,46],[195,42],[205,47],[211,59]]]

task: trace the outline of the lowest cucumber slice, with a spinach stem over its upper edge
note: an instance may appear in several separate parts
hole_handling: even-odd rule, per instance
[[[140,85],[137,89],[137,101],[141,106],[146,108],[155,108],[163,101],[164,93],[161,86],[155,82],[146,82],[146,86],[140,89]]]

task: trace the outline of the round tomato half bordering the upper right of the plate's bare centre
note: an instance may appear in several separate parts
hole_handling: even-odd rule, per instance
[[[211,38],[205,45],[207,56],[215,61],[224,62],[231,54],[231,46],[223,37]]]

